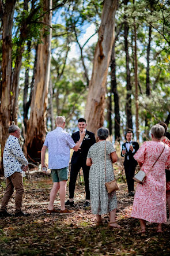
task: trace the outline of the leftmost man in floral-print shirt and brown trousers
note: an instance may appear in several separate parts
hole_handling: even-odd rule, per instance
[[[28,216],[21,211],[22,195],[24,185],[22,181],[22,171],[27,170],[28,161],[21,150],[18,139],[20,138],[20,128],[17,125],[10,125],[9,138],[6,140],[3,151],[3,168],[6,177],[6,191],[2,198],[0,217],[10,217],[12,214],[6,211],[7,204],[11,198],[14,188],[16,189],[16,217]]]

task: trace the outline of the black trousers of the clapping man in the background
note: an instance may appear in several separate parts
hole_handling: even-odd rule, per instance
[[[126,174],[128,191],[134,191],[134,174],[136,165],[131,160],[124,161],[124,170]]]

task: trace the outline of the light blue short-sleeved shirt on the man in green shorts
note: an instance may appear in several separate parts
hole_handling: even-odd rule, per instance
[[[47,134],[44,146],[48,147],[48,168],[62,169],[69,166],[70,148],[72,149],[75,143],[62,127],[56,127]]]

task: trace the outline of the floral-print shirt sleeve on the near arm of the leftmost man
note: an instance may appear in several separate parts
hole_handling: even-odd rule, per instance
[[[22,164],[22,165],[28,165],[28,161],[25,158],[24,153],[22,152],[22,149],[20,147],[19,142],[16,140],[12,143],[10,147],[11,153],[16,157],[16,159]]]

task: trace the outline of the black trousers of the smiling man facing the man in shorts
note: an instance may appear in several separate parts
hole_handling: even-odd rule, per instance
[[[74,198],[75,183],[77,180],[77,175],[80,169],[83,170],[86,199],[90,200],[90,190],[89,190],[89,170],[90,166],[86,166],[85,162],[80,159],[76,164],[71,164],[70,172],[70,183],[69,183],[69,198]]]

